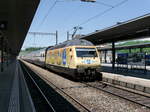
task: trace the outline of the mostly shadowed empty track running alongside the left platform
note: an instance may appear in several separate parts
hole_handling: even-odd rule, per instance
[[[78,100],[74,99],[72,96],[63,91],[63,89],[57,87],[46,78],[40,77],[24,63],[21,62],[21,66],[25,74],[25,79],[27,81],[31,97],[33,98],[36,111],[91,112],[88,107],[81,104]]]

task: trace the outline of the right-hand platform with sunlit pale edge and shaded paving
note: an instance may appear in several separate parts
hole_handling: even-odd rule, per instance
[[[150,70],[112,69],[111,64],[102,64],[102,79],[105,82],[124,86],[150,94]]]

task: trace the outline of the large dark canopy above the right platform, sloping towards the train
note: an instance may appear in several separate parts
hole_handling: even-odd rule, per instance
[[[150,13],[138,18],[121,22],[106,29],[98,30],[81,39],[89,40],[95,45],[141,38],[150,35]]]

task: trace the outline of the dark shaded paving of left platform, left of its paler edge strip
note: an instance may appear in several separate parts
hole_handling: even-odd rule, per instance
[[[0,111],[7,112],[9,107],[11,89],[15,74],[16,61],[13,61],[7,69],[0,72]]]

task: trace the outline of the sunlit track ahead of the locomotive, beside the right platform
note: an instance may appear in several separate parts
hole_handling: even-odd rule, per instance
[[[121,86],[115,86],[105,82],[90,82],[84,84],[88,87],[92,87],[106,93],[115,95],[133,103],[150,108],[150,95],[140,94],[136,91],[125,89]]]

